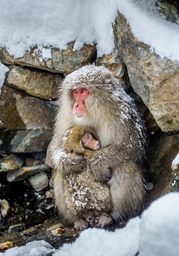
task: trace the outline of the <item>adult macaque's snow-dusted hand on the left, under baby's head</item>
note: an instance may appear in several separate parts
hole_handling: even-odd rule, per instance
[[[64,174],[80,172],[84,167],[84,156],[76,153],[67,153],[63,148],[59,148],[53,156],[53,163],[56,170]]]

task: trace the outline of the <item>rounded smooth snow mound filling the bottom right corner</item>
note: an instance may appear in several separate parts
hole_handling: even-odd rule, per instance
[[[171,192],[144,211],[140,223],[139,256],[179,255],[179,192]]]

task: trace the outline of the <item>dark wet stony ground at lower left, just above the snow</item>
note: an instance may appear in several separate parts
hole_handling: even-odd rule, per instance
[[[115,223],[105,227],[105,229],[114,231],[116,228],[124,227],[124,225],[124,223]],[[60,230],[62,230],[62,234],[53,234],[52,231],[57,230],[58,227],[60,227]],[[73,243],[79,234],[80,231],[74,230],[72,226],[70,227],[66,222],[63,222],[57,216],[50,216],[50,218],[46,218],[42,222],[31,225],[28,229],[20,232],[13,232],[11,234],[9,234],[7,230],[0,232],[0,243],[9,241],[12,242],[13,247],[15,247],[26,245],[34,240],[45,240],[57,249],[64,243]],[[0,252],[4,251],[5,250],[0,250]]]

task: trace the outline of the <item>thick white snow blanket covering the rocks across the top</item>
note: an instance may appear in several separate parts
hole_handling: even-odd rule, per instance
[[[114,49],[112,23],[117,9],[127,18],[133,34],[155,51],[179,61],[179,24],[159,14],[156,0],[0,0],[0,49],[14,58],[23,57],[31,47],[40,61],[51,58],[51,47],[73,50],[84,43],[97,44],[97,56]],[[0,65],[4,74],[4,67]],[[7,71],[6,71],[7,72]],[[2,75],[4,77],[4,75]],[[0,77],[0,86],[3,80]]]

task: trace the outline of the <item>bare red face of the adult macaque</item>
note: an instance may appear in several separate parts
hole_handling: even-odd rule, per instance
[[[73,112],[76,117],[84,117],[86,115],[85,100],[88,97],[88,90],[86,88],[72,89],[73,99],[75,100]]]

